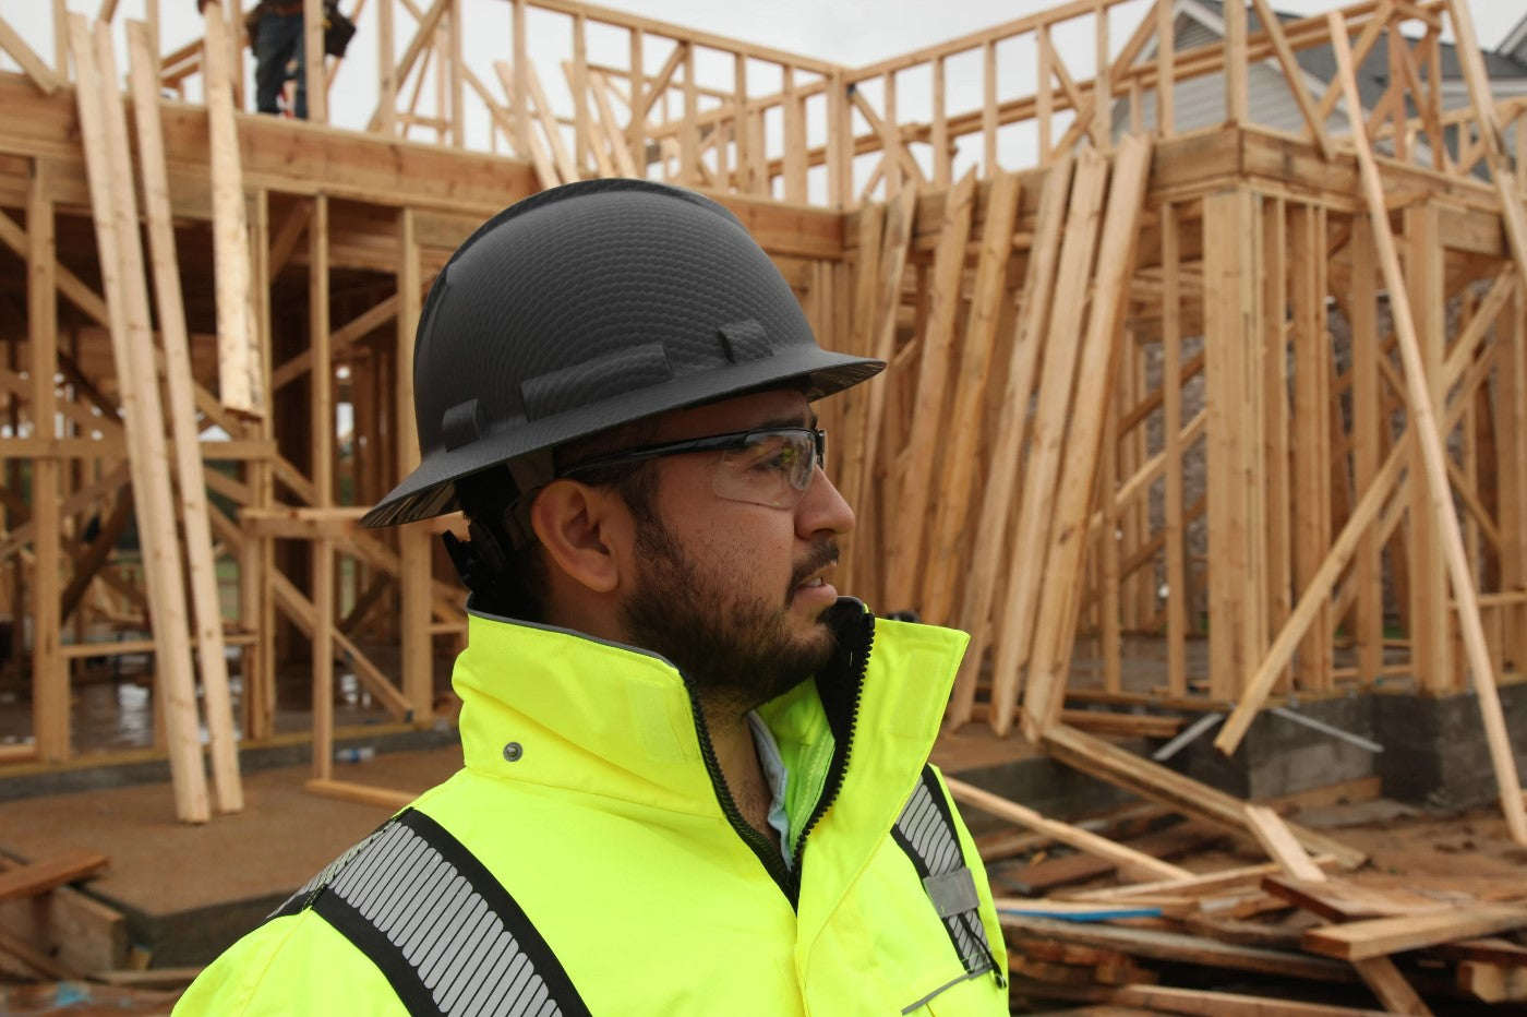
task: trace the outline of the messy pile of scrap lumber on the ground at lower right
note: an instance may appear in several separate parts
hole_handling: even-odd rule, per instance
[[[1173,774],[1177,793],[1182,782]],[[1358,785],[1342,789],[1382,805],[1377,780]],[[1219,805],[1151,802],[1075,825],[1025,823],[1022,806],[951,786],[962,805],[1026,826],[977,837],[1006,931],[1015,1012],[1072,1005],[1336,1017],[1504,1014],[1527,1003],[1527,867],[1504,828],[1493,829],[1498,817],[1368,808],[1359,818],[1380,822],[1348,831],[1362,844],[1350,846],[1260,805],[1241,803],[1240,823]],[[1338,811],[1315,808],[1328,806],[1318,793],[1283,809],[1301,799],[1313,803],[1307,815]],[[1428,843],[1408,840],[1406,825]],[[1335,851],[1312,855],[1301,841]],[[1496,857],[1484,857],[1484,841],[1500,841]],[[1481,849],[1475,864],[1460,858],[1460,843]],[[1402,852],[1426,848],[1428,861],[1405,861]],[[1248,855],[1272,861],[1246,864]],[[1185,867],[1162,878],[1142,858]]]

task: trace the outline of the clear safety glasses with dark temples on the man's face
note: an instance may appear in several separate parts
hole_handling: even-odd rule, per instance
[[[644,444],[594,457],[570,466],[559,476],[690,452],[721,452],[712,481],[718,498],[794,508],[811,487],[817,467],[828,463],[828,432],[820,428],[765,428]]]

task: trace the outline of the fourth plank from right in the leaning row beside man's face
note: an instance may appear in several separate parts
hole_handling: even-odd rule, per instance
[[[933,504],[933,527],[928,545],[927,579],[919,603],[924,620],[933,625],[954,623],[957,576],[965,562],[960,548],[967,542],[970,504],[979,493],[976,475],[977,444],[985,426],[985,396],[991,374],[991,354],[997,341],[997,321],[1005,293],[1008,257],[1012,252],[1012,229],[1019,214],[1019,177],[999,174],[986,191],[986,215],[982,228],[980,255],[976,264],[976,289],[971,293],[970,318],[965,325],[964,350],[954,376],[954,402],[948,428],[953,434],[938,435],[942,479],[933,487],[939,498]],[[931,476],[930,476],[931,479]],[[927,525],[927,521],[924,521]]]

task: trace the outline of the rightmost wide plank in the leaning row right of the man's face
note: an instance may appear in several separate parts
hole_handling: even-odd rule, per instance
[[[1086,531],[1098,478],[1107,418],[1104,411],[1118,371],[1118,348],[1128,307],[1128,275],[1135,267],[1150,160],[1150,139],[1133,134],[1119,142],[1098,264],[1092,273],[1092,307],[1077,366],[1077,394],[1049,530],[1046,597],[1038,605],[1034,622],[1034,652],[1023,690],[1023,733],[1029,741],[1037,741],[1040,731],[1057,721],[1064,702],[1075,617],[1083,594],[1080,576],[1087,550],[1087,542],[1080,538]],[[993,702],[999,702],[996,695]]]

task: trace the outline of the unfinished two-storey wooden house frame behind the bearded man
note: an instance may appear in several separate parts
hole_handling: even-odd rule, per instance
[[[1170,3],[1122,26],[1122,2],[846,69],[571,0],[490,5],[513,61],[478,67],[463,0],[368,0],[377,76],[341,86],[373,110],[365,130],[322,125],[322,99],[308,125],[234,113],[231,5],[209,6],[202,46],[134,67],[195,101],[159,102],[153,118],[134,118],[134,173],[168,195],[145,206],[150,240],[171,244],[153,261],[179,249],[189,337],[177,374],[177,301],[157,292],[160,345],[136,370],[194,415],[165,434],[200,454],[176,467],[182,499],[179,478],[206,464],[209,536],[159,525],[237,574],[223,631],[199,625],[186,644],[203,663],[218,635],[240,647],[244,738],[275,733],[276,667],[304,654],[319,777],[336,660],[399,722],[429,718],[460,592],[431,527],[356,527],[417,460],[400,365],[421,296],[492,212],[611,173],[716,194],[823,345],[892,363],[823,411],[861,518],[843,585],[973,632],[953,722],[1041,738],[1067,696],[1237,707],[1232,748],[1267,696],[1405,680],[1493,702],[1527,663],[1527,105],[1490,102],[1457,3],[1281,24],[1264,0],[1228,3],[1222,46],[1177,52]],[[148,3],[134,27],[140,60],[156,15]],[[1458,110],[1438,81],[1445,27],[1471,87]],[[1090,40],[1090,78],[1063,34]],[[1341,81],[1309,93],[1296,70],[1303,49],[1358,66],[1380,43],[1396,73],[1370,110]],[[113,551],[131,505],[142,533],[150,478],[124,470],[134,383],[128,350],[108,351],[122,325],[90,228],[105,199],[79,140],[78,53],[70,75],[63,49],[49,64],[3,21],[0,47],[21,70],[0,73],[0,567],[31,623],[17,644],[32,651],[14,652],[35,705],[34,741],[0,762],[53,764],[73,754],[70,661],[144,652],[102,634],[159,638],[166,618],[145,623],[154,582]],[[1249,122],[1252,63],[1286,73],[1303,134]],[[948,82],[971,67],[980,98],[959,108]],[[1176,89],[1205,78],[1229,122],[1171,130]],[[1118,131],[1147,108],[1168,127]],[[156,130],[160,170],[142,154]],[[1142,637],[1164,661],[1138,678]],[[1096,666],[1067,687],[1073,657]]]

